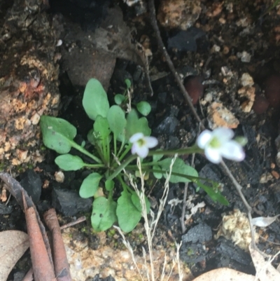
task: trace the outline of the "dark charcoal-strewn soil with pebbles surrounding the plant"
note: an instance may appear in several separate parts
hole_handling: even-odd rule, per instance
[[[57,4],[54,5],[52,2]],[[152,135],[159,139],[160,148],[174,149],[194,144],[200,132],[200,125],[186,105],[158,48],[149,14],[146,13],[145,1],[132,6],[123,1],[102,1],[104,6],[98,6],[100,17],[96,16],[94,22],[89,20],[90,17],[95,17],[91,14],[92,10],[87,7],[89,2],[101,5],[100,1],[80,1],[80,4],[69,1],[73,5],[72,10],[71,5],[64,10],[65,6],[59,5],[59,1],[50,1],[50,9],[43,12],[48,13],[48,17],[56,19],[59,13],[59,20],[63,25],[62,46],[59,46],[59,53],[62,54],[59,72],[59,92],[62,102],[59,117],[65,118],[78,128],[77,142],[86,139],[87,132],[92,126],[81,104],[83,89],[87,78],[99,75],[98,78],[108,90],[111,101],[114,95],[125,90],[125,78],[130,78],[134,89],[132,102],[146,100],[152,106],[148,121]],[[228,126],[235,129],[236,135],[248,139],[245,146],[246,159],[241,163],[227,160],[225,163],[243,186],[244,196],[253,207],[253,217],[273,217],[280,214],[280,145],[275,142],[280,133],[280,6],[268,11],[272,5],[272,1],[268,0],[185,1],[189,6],[184,11],[188,13],[178,16],[175,11],[168,14],[166,8],[168,5],[164,6],[167,2],[155,3],[161,36],[176,71],[193,97],[197,113],[208,128]],[[169,2],[180,7],[184,1]],[[110,10],[113,8],[116,10]],[[118,48],[109,50],[105,43],[102,47],[94,45],[90,41],[90,36],[94,38],[94,34],[99,34],[102,36],[100,40],[104,42],[106,38],[107,43],[111,40],[112,35],[108,35],[110,31],[101,34],[99,27],[112,11],[113,15],[116,15],[117,11],[122,13],[123,20],[120,18],[115,22],[119,27],[121,43],[116,41]],[[168,19],[165,18],[167,15]],[[183,21],[184,17],[188,18],[188,21]],[[132,41],[130,36],[127,36],[127,31],[130,32]],[[135,42],[141,43],[141,52],[135,47]],[[94,72],[90,68],[89,54],[93,51],[101,54],[94,59],[94,62],[99,60],[97,66],[102,65],[100,71]],[[143,53],[148,57],[150,78],[146,75],[147,65]],[[75,207],[69,209],[69,206],[62,206],[61,201],[57,199],[60,191],[67,192],[67,196],[72,198],[86,172],[64,172],[64,182],[58,182],[55,180],[55,172],[58,171],[54,163],[55,157],[53,151],[47,151],[45,160],[36,164],[35,174],[39,175],[41,181],[36,181],[35,184],[41,195],[36,200],[39,212],[43,212],[50,205],[55,205],[61,214],[59,217],[61,224],[72,221],[82,214],[87,216],[87,221],[69,228],[64,236],[66,240],[71,236],[71,241],[65,240],[70,252],[75,247],[85,245],[87,252],[90,250],[101,252],[99,254],[92,252],[92,255],[99,256],[99,265],[95,261],[97,269],[88,276],[94,277],[94,274],[101,273],[100,277],[113,275],[116,280],[121,280],[120,273],[123,273],[126,280],[137,280],[135,275],[126,274],[125,268],[111,266],[111,269],[108,269],[110,266],[104,266],[105,263],[117,264],[113,257],[109,261],[104,254],[102,256],[104,249],[114,256],[115,251],[120,253],[124,247],[116,231],[111,229],[106,233],[94,233],[91,230],[91,201],[87,204],[78,203],[76,198]],[[192,162],[191,156],[185,156],[183,159],[188,163]],[[246,208],[230,179],[221,167],[209,163],[202,155],[195,155],[194,166],[201,177],[209,177],[223,184],[223,196],[228,199],[230,205],[214,203],[204,191],[197,192],[197,186],[189,184],[187,198],[193,205],[190,205],[186,212],[188,215],[185,221],[186,231],[182,232],[181,203],[172,205],[171,200],[182,200],[185,185],[170,184],[168,204],[165,206],[155,235],[155,250],[157,253],[170,253],[174,249],[174,241],[182,240],[181,261],[190,268],[194,276],[219,267],[230,267],[254,274],[255,270],[248,252],[239,247],[239,242],[236,240],[232,242],[232,239],[229,239],[236,233],[228,236],[223,233],[220,237],[216,235],[221,233],[221,224],[227,218],[225,216],[232,214],[235,218],[238,217],[235,229],[241,229],[239,234],[242,239],[246,236],[244,234],[246,227],[241,224],[240,213],[246,212]],[[24,182],[31,177],[30,181],[34,182],[36,176],[32,175],[32,172],[20,174],[18,179]],[[154,203],[154,212],[158,212],[162,185],[161,181],[152,178],[146,186],[147,194]],[[36,187],[32,190],[35,189]],[[190,214],[193,210],[191,207],[198,204],[201,207],[198,207],[194,214]],[[10,200],[8,207],[3,205],[0,209],[0,231],[25,230],[22,218],[20,208]],[[256,232],[259,236],[258,247],[263,252],[276,254],[279,251],[279,219],[265,228],[256,228]],[[127,235],[127,239],[137,256],[141,256],[141,247],[147,247],[143,221],[135,231]],[[120,259],[120,256],[121,254],[116,254],[115,259]],[[25,256],[23,261],[27,260],[28,257]],[[25,271],[21,268],[23,261],[15,267],[10,280],[13,280],[14,273]],[[279,261],[279,258],[275,259],[273,264],[278,265]],[[122,264],[125,264],[125,261]],[[98,266],[102,270],[98,270]],[[188,277],[191,278],[191,274],[188,273],[186,278]],[[174,278],[176,280],[176,277]]]

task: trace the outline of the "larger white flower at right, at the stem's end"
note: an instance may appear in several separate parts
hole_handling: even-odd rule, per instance
[[[232,139],[234,132],[228,128],[217,128],[212,132],[204,130],[197,138],[197,145],[204,149],[205,156],[212,163],[220,163],[222,157],[241,161],[245,153],[241,144]]]

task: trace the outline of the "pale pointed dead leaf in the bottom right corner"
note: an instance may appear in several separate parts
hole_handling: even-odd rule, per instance
[[[258,251],[252,249],[251,245],[249,245],[249,250],[255,266],[255,277],[258,277],[257,280],[279,281],[280,273],[271,265],[270,261],[265,261],[265,258]]]

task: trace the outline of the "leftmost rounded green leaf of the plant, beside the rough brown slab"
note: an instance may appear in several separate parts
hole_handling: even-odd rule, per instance
[[[68,121],[52,116],[41,116],[40,127],[43,135],[43,143],[48,149],[57,153],[68,153],[71,149],[73,138],[77,130]]]

